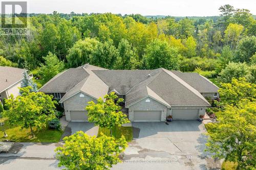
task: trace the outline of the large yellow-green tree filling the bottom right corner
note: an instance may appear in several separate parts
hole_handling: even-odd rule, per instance
[[[233,96],[236,98],[236,96]],[[256,103],[242,100],[217,113],[218,122],[208,125],[207,151],[214,157],[238,163],[237,169],[255,167]]]

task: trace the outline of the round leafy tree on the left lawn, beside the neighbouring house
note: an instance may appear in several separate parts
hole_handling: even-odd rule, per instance
[[[33,127],[41,129],[47,126],[47,122],[55,117],[52,96],[42,92],[30,92],[31,87],[20,88],[22,95],[14,96],[6,100],[8,110],[4,111],[4,116],[8,117],[10,125],[30,128],[34,137]]]

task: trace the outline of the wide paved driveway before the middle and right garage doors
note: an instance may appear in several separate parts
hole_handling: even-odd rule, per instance
[[[134,140],[112,169],[220,169],[204,152],[206,129],[197,120],[132,123]]]

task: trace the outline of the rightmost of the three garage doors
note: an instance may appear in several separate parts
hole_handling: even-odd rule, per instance
[[[173,119],[198,119],[199,109],[173,109]]]

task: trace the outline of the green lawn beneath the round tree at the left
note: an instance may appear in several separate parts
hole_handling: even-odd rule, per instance
[[[3,128],[0,127],[0,140],[9,139],[16,142],[58,142],[62,135],[62,131],[49,130],[47,128],[38,131],[33,128],[34,137],[32,138],[30,129],[20,130],[20,127],[10,126],[5,118],[0,118],[0,122],[5,122],[5,132],[8,137],[5,138]]]

